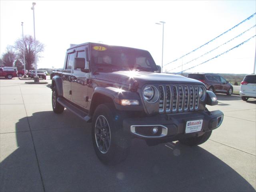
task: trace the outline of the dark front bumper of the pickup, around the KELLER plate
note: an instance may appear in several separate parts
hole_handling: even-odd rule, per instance
[[[203,120],[202,129],[197,132],[185,133],[186,122],[193,120]],[[123,128],[125,132],[129,132],[137,138],[161,139],[168,142],[191,136],[200,136],[204,132],[218,128],[222,124],[222,120],[223,113],[220,110],[212,112],[188,112],[183,114],[158,114],[153,117],[126,118],[123,121]],[[154,126],[158,126],[161,132],[156,135],[147,134],[146,129]]]

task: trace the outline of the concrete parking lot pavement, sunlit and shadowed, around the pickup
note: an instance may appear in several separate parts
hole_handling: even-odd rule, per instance
[[[50,80],[46,80],[50,84]],[[255,191],[256,100],[217,94],[224,120],[197,147],[148,147],[135,139],[128,158],[102,164],[90,124],[54,114],[49,84],[0,78],[0,191]]]

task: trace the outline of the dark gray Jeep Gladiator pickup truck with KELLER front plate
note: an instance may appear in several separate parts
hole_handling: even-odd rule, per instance
[[[67,108],[92,122],[98,158],[115,164],[126,158],[132,138],[149,146],[179,141],[202,144],[223,120],[216,95],[183,76],[161,73],[146,50],[84,43],[66,52],[63,70],[52,77],[52,108]],[[82,126],[82,125],[81,125]]]

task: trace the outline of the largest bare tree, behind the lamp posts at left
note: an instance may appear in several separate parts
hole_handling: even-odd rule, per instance
[[[31,70],[34,69],[35,63],[35,47],[34,47],[34,39],[31,35],[24,36],[24,41],[22,38],[16,40],[14,44],[14,48],[17,50],[17,57],[24,64],[23,59],[23,50],[25,47],[25,63],[26,69]],[[36,56],[37,58],[42,57],[40,53],[44,51],[44,44],[36,40]]]

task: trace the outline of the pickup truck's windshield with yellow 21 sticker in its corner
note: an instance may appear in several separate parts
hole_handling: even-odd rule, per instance
[[[133,48],[92,46],[91,62],[92,66],[112,70],[158,70],[149,52]]]

